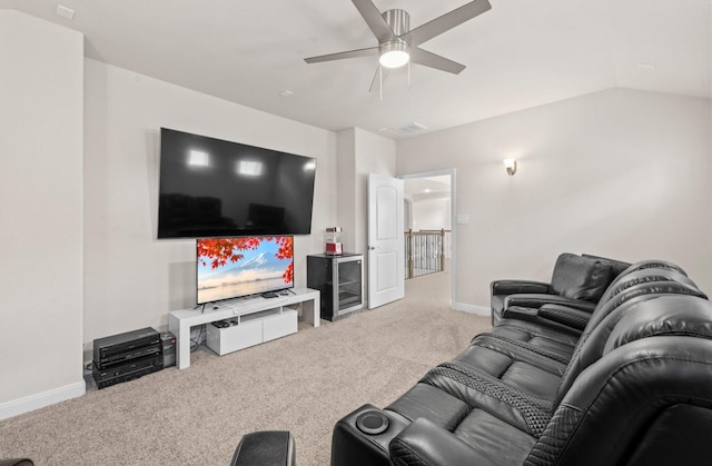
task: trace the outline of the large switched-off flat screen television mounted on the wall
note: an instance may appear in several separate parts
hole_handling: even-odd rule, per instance
[[[158,238],[308,235],[316,159],[161,128]]]

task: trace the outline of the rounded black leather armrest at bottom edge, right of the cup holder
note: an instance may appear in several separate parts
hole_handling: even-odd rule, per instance
[[[416,419],[390,440],[388,450],[393,463],[404,466],[496,466],[453,433],[425,418]]]

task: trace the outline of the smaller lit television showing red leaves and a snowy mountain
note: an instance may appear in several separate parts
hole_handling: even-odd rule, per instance
[[[198,304],[294,287],[294,237],[197,240]]]

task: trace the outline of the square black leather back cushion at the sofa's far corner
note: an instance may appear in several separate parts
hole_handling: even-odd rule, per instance
[[[610,282],[610,264],[564,252],[556,259],[551,286],[554,294],[565,298],[597,303]]]

